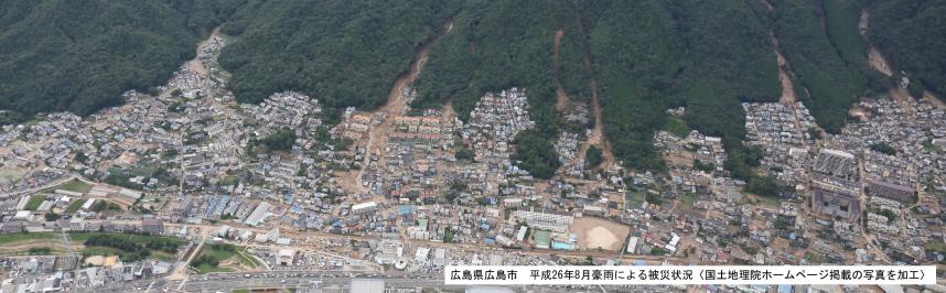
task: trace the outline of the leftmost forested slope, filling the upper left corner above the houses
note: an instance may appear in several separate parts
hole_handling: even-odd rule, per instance
[[[0,0],[0,109],[88,115],[163,84],[240,1]],[[0,121],[2,122],[2,121]]]

